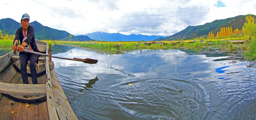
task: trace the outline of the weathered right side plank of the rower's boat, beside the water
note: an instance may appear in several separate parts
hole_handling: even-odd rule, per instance
[[[47,47],[46,51],[48,51]],[[46,96],[50,119],[77,120],[55,71],[50,71],[49,57],[46,57]]]

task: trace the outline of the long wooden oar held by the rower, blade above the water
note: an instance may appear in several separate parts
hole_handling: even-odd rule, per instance
[[[29,50],[25,50],[25,49],[23,50],[23,52],[33,53],[33,54],[36,54],[36,55],[42,55],[42,56],[49,57],[49,55],[47,55],[47,54],[38,53],[38,52],[34,52],[34,51],[29,51]],[[74,59],[71,59],[71,58],[58,57],[58,56],[51,56],[51,57],[58,58],[58,59],[65,59],[65,60],[81,61],[81,62],[88,63],[88,64],[96,64],[98,62],[98,60],[90,59],[90,58],[86,58],[86,59],[74,58]]]

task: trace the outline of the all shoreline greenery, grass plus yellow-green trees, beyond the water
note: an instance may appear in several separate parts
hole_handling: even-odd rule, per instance
[[[214,38],[212,32],[209,32],[209,37],[204,38],[205,43],[200,42],[202,38],[193,38],[190,40],[180,39],[179,41],[160,41],[167,44],[151,44],[146,45],[144,41],[136,42],[107,42],[107,41],[85,41],[85,42],[75,42],[75,41],[61,41],[61,40],[41,40],[43,42],[48,41],[49,44],[63,44],[63,45],[76,45],[83,48],[94,49],[95,51],[100,51],[103,53],[116,53],[127,52],[133,50],[158,50],[158,49],[193,49],[200,50],[205,47],[225,47],[231,52],[236,50],[244,51],[244,57],[246,60],[256,60],[256,25],[254,22],[254,17],[251,15],[246,16],[247,22],[244,23],[242,30],[234,30],[232,28],[221,28],[220,32]],[[5,48],[11,48],[13,45],[14,35],[2,34],[0,31],[0,50]],[[235,45],[232,40],[246,40],[243,44]],[[140,43],[139,43],[140,42]],[[151,43],[153,41],[146,41]],[[156,41],[159,42],[159,41]],[[193,42],[193,43],[189,43]],[[210,44],[209,44],[210,43]],[[115,44],[121,44],[121,46],[115,47]]]

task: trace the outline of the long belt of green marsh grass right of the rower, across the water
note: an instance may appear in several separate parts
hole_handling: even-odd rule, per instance
[[[55,43],[55,44],[64,44],[64,45],[77,45],[80,47],[86,47],[91,49],[97,49],[100,51],[109,51],[109,52],[116,52],[116,51],[133,51],[136,49],[150,49],[150,50],[157,50],[157,49],[201,49],[203,46],[207,47],[209,42],[213,42],[211,46],[226,46],[230,48],[230,51],[234,51],[237,48],[234,47],[232,43],[230,43],[228,40],[241,40],[244,39],[243,37],[240,38],[226,38],[225,41],[222,41],[221,39],[209,39],[204,40],[206,41],[205,44],[197,40],[197,42],[193,42],[194,40],[183,40],[181,43],[171,44],[173,42],[179,42],[179,41],[162,41],[165,43],[168,43],[166,45],[160,45],[160,44],[152,44],[152,45],[145,45],[145,44],[139,44],[138,42],[125,42],[125,41],[119,41],[119,42],[107,42],[107,41],[90,41],[94,42],[95,44],[92,44],[90,42],[74,42],[74,41],[49,41],[49,43]],[[42,40],[43,42],[46,42],[46,40]],[[151,42],[151,41],[148,41]],[[193,43],[188,43],[193,42]],[[144,43],[144,42],[141,42]],[[114,47],[114,44],[124,44],[119,47]],[[138,47],[135,47],[133,45],[138,45]],[[243,48],[239,49],[245,49],[245,46]]]

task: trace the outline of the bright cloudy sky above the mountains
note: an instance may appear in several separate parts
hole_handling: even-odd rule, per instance
[[[238,15],[256,15],[253,0],[2,0],[1,18],[30,22],[70,34],[108,32],[171,36],[187,26]],[[1,19],[0,18],[0,19]]]

